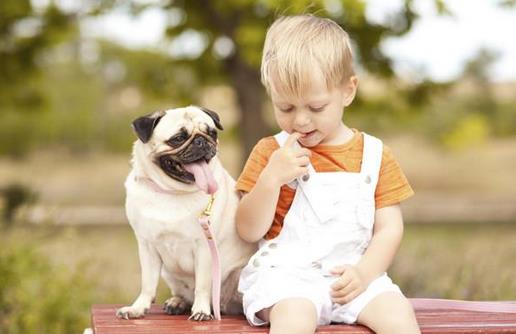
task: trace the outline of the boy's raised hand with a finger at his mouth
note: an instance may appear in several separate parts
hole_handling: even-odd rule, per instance
[[[297,177],[308,174],[311,152],[303,147],[296,147],[295,143],[301,137],[293,132],[285,145],[272,153],[262,174],[276,186],[282,186]]]

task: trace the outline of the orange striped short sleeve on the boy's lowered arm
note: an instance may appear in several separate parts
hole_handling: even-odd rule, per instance
[[[378,184],[376,185],[376,208],[395,205],[414,195],[407,177],[394,158],[391,149],[384,145],[382,153],[382,165]]]

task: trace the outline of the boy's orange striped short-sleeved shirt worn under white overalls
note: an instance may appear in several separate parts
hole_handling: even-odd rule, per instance
[[[360,172],[364,136],[362,132],[353,129],[353,138],[342,145],[317,145],[311,147],[312,163],[316,172]],[[237,190],[249,192],[253,189],[258,176],[267,165],[272,152],[279,148],[274,137],[261,139],[253,148],[247,159],[244,170],[237,180]],[[294,199],[295,190],[284,185],[281,187],[274,221],[265,235],[266,239],[276,237],[283,226],[283,219]],[[382,164],[378,184],[376,185],[376,208],[398,204],[414,194],[410,184],[394,158],[392,151],[383,145]]]

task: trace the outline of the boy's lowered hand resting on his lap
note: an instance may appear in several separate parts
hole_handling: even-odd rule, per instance
[[[340,276],[332,285],[331,300],[338,304],[347,304],[365,291],[367,284],[355,266],[337,266],[331,273]]]

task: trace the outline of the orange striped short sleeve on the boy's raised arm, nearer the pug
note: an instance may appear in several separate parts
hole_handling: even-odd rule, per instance
[[[251,151],[244,169],[238,177],[236,189],[243,192],[250,192],[253,189],[262,170],[269,162],[272,152],[279,148],[274,137],[261,139]]]

